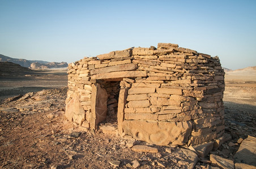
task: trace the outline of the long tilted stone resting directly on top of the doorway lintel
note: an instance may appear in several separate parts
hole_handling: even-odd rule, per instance
[[[108,73],[108,72],[120,72],[125,70],[135,70],[137,66],[135,64],[122,64],[115,66],[107,66],[104,68],[93,69],[91,74]]]

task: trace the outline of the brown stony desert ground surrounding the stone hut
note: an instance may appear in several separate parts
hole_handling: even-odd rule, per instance
[[[3,72],[3,70],[1,70]],[[0,76],[0,168],[219,168],[184,146],[156,146],[91,133],[64,117],[67,70]],[[225,74],[225,132],[232,139],[210,154],[232,159],[241,139],[256,137],[256,66]],[[238,142],[238,143],[237,143]],[[136,152],[147,145],[157,153]]]

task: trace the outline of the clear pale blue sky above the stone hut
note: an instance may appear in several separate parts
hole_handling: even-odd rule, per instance
[[[256,1],[0,0],[0,54],[66,61],[159,42],[256,66]]]

